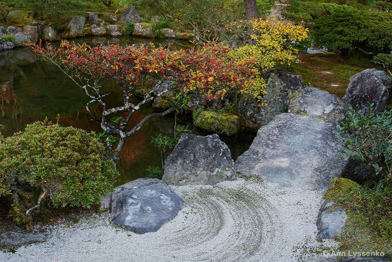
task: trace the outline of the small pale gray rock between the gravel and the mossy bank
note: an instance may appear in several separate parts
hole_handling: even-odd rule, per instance
[[[335,202],[324,201],[321,205],[316,222],[318,230],[316,238],[334,239],[335,236],[342,233],[347,215],[343,209],[332,210],[331,206],[333,204],[335,204]]]

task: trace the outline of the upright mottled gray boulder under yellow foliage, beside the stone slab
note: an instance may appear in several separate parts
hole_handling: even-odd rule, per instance
[[[267,106],[259,106],[255,99],[244,96],[238,102],[238,113],[248,122],[266,125],[276,115],[287,112],[285,102],[288,95],[292,92],[302,94],[303,89],[300,75],[271,70],[267,81],[267,94],[263,98],[263,103]]]

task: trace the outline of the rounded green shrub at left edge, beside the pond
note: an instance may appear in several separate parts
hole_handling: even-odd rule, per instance
[[[14,222],[27,225],[44,202],[90,208],[113,190],[119,175],[94,133],[50,122],[1,138],[0,167],[0,199],[12,198]]]

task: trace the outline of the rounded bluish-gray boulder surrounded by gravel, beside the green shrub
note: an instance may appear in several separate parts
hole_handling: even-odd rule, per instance
[[[118,186],[111,201],[113,223],[137,234],[157,231],[185,206],[169,186],[157,179],[137,179]]]

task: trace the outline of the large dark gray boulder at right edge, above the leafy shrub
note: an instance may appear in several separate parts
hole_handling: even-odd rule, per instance
[[[387,108],[391,78],[384,71],[366,69],[352,76],[350,80],[342,98],[343,102],[362,111],[368,110],[368,102],[374,103],[375,112],[382,112]]]

